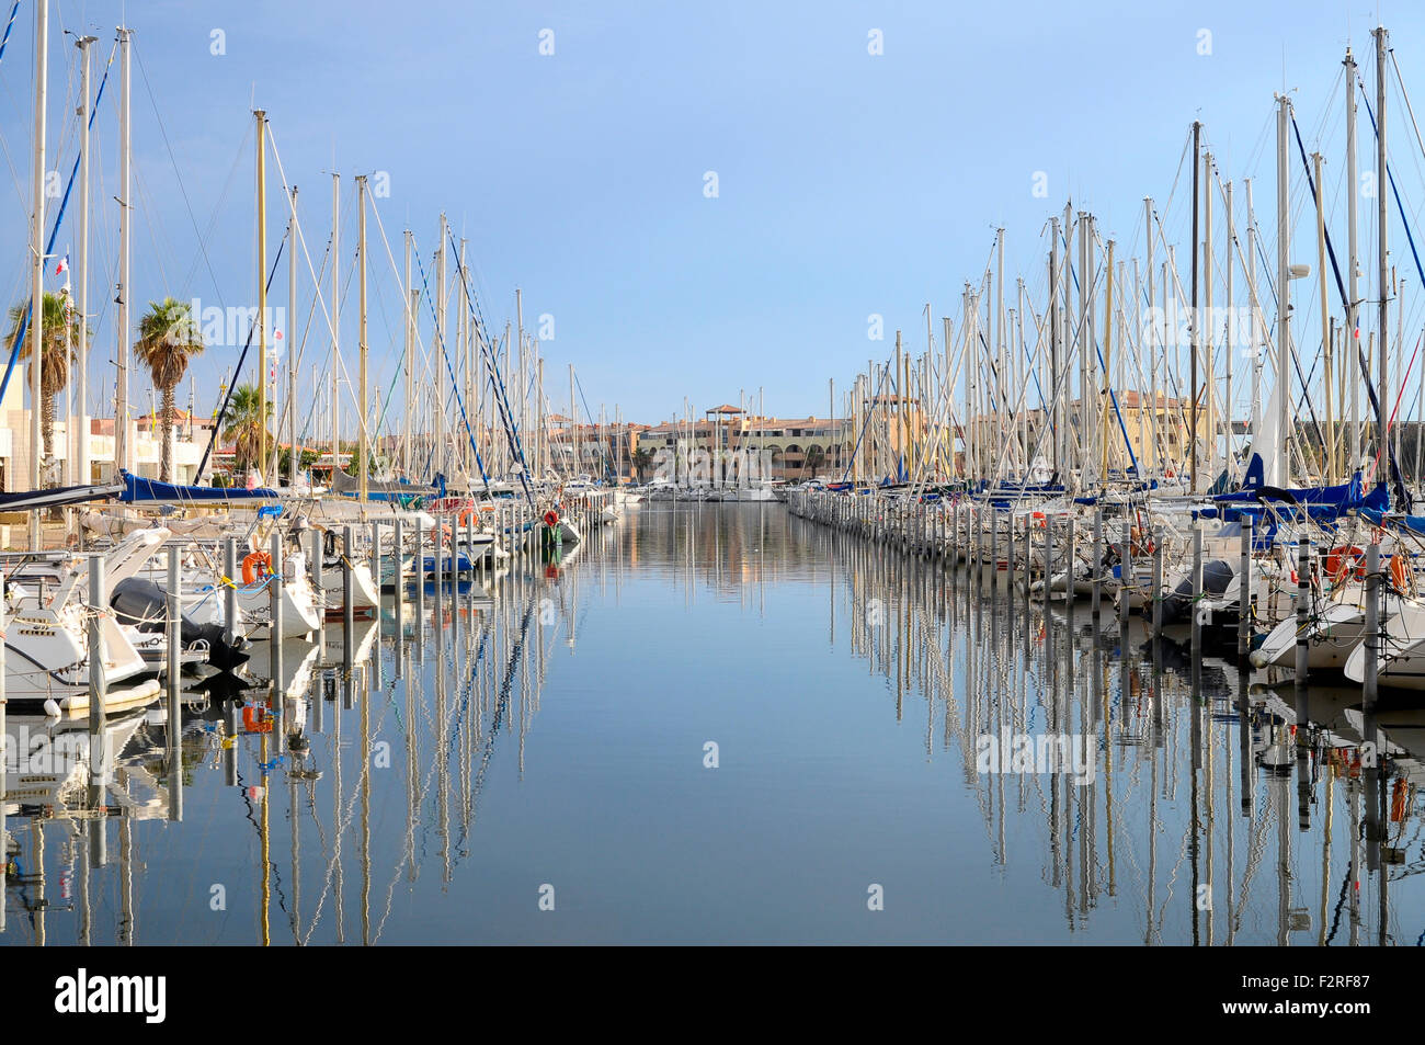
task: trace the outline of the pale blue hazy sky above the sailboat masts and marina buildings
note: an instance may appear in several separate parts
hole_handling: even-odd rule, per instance
[[[10,3],[0,0],[0,17]],[[0,279],[14,301],[27,288],[34,11],[21,0],[0,60],[0,231],[11,245]],[[1340,194],[1341,57],[1351,41],[1369,77],[1378,20],[1406,87],[1425,83],[1425,11],[1404,3],[217,0],[125,10],[51,0],[50,11],[47,168],[61,180],[76,155],[78,90],[77,50],[61,30],[97,36],[100,68],[114,27],[134,30],[135,298],[255,302],[251,110],[261,107],[285,182],[299,190],[314,269],[331,231],[331,171],[343,175],[343,278],[356,240],[351,175],[382,185],[368,228],[372,383],[383,401],[402,346],[402,230],[429,268],[443,211],[467,240],[487,326],[499,334],[514,318],[519,287],[526,326],[553,335],[542,339],[551,409],[567,412],[573,364],[593,413],[617,406],[643,422],[681,413],[685,399],[701,412],[758,392],[768,413],[825,415],[828,379],[839,401],[868,359],[885,359],[896,329],[923,348],[928,302],[939,344],[939,316],[958,319],[996,228],[1010,284],[1017,272],[1032,291],[1042,284],[1045,222],[1069,198],[1104,237],[1137,238],[1131,249],[1141,249],[1146,195],[1171,197],[1164,225],[1184,231],[1187,182],[1174,191],[1174,180],[1187,177],[1193,120],[1224,178],[1257,180],[1258,217],[1271,224],[1282,87]],[[117,258],[114,70],[94,130],[100,302],[113,297]],[[1425,200],[1422,151],[1404,115],[1392,118],[1392,164],[1414,211],[1411,200]],[[269,174],[275,249],[284,177]],[[58,251],[76,237],[71,210]],[[1314,262],[1312,244],[1305,254]],[[299,398],[321,402],[314,368],[325,381],[328,335],[319,316],[306,321],[306,257],[301,269]],[[284,261],[276,304],[286,294]],[[351,279],[342,341],[352,376],[355,299]],[[87,392],[107,413],[114,316],[91,311]],[[882,341],[868,336],[872,315],[884,316]],[[209,345],[194,364],[201,413],[239,351]],[[145,409],[147,381],[134,389]]]

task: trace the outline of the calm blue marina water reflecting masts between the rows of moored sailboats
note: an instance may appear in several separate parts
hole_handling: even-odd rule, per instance
[[[1416,767],[1399,753],[1402,783],[1382,791],[1332,754],[1359,738],[1352,694],[1314,690],[1292,733],[1290,686],[1248,689],[1208,659],[1194,699],[1183,649],[1160,646],[1154,670],[1112,609],[1097,637],[1087,603],[1046,627],[1037,602],[990,600],[963,572],[779,505],[654,503],[436,614],[432,592],[398,634],[388,604],[379,633],[351,636],[351,670],[339,627],[323,649],[288,644],[272,733],[194,694],[181,788],[160,711],[111,724],[101,798],[84,770],[11,776],[28,790],[6,807],[0,941],[1301,947],[1425,931]],[[1414,723],[1381,719],[1406,746]],[[7,730],[33,747],[83,726],[11,714]],[[1086,761],[989,771],[985,753],[1016,736],[1063,736]],[[1385,882],[1365,841],[1379,808]]]

